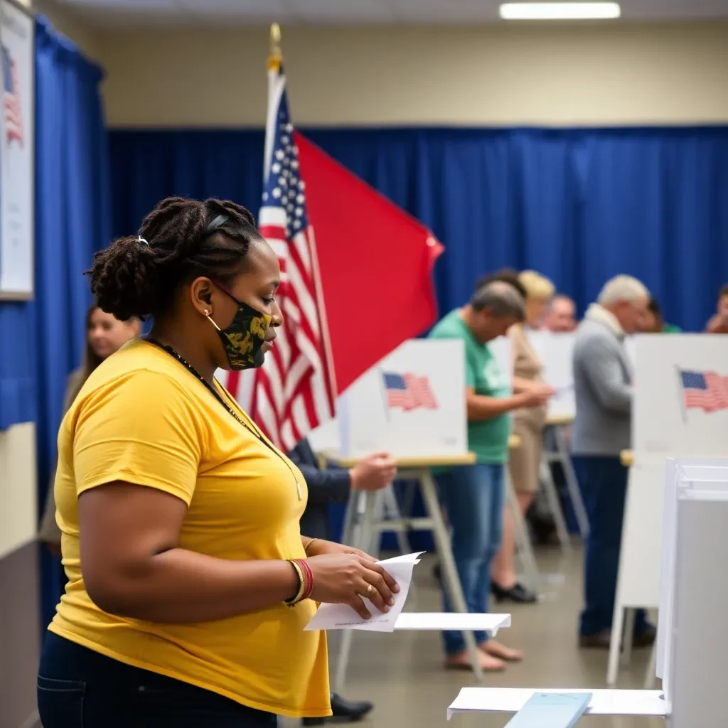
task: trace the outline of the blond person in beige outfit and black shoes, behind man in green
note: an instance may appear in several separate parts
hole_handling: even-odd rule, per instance
[[[523,271],[518,282],[526,292],[526,321],[508,330],[513,355],[513,391],[541,391],[545,396],[555,391],[542,379],[542,363],[529,342],[529,329],[541,328],[542,319],[555,288],[552,282],[534,271]],[[547,405],[513,412],[513,434],[521,445],[510,451],[508,467],[521,513],[526,515],[539,486],[539,467],[546,424]],[[494,559],[491,590],[498,601],[534,602],[536,595],[519,584],[515,574],[515,535],[506,510],[503,542]]]

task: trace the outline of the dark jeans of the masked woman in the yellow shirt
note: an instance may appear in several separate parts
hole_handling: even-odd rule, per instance
[[[256,711],[179,680],[132,668],[47,633],[38,673],[43,728],[274,728]]]

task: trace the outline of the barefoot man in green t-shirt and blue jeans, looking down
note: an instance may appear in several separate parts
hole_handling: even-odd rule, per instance
[[[508,459],[510,411],[544,403],[541,392],[511,392],[511,373],[499,364],[488,341],[505,336],[524,318],[523,298],[513,286],[489,282],[470,303],[451,311],[430,332],[431,339],[460,339],[465,347],[468,448],[476,463],[438,474],[440,497],[451,528],[452,549],[468,612],[488,609],[491,560],[500,547],[504,509],[504,466]],[[443,590],[444,611],[452,605]],[[483,670],[503,670],[505,660],[523,655],[486,633],[476,632]],[[443,633],[446,667],[472,669],[460,632]]]

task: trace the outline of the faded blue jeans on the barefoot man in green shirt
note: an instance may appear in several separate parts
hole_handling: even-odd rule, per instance
[[[438,475],[437,480],[467,611],[488,612],[491,561],[498,553],[503,533],[503,466],[478,463],[454,467]],[[443,611],[454,611],[445,588]],[[485,632],[475,633],[478,644],[487,639]],[[465,649],[462,632],[443,632],[443,641],[447,654]]]

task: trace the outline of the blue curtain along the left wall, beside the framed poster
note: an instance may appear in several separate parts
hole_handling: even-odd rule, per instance
[[[68,374],[79,365],[91,295],[83,272],[108,244],[108,136],[102,72],[50,23],[36,23],[36,298],[25,323],[36,352],[39,507],[56,458]],[[60,567],[43,550],[43,619],[59,598]]]

